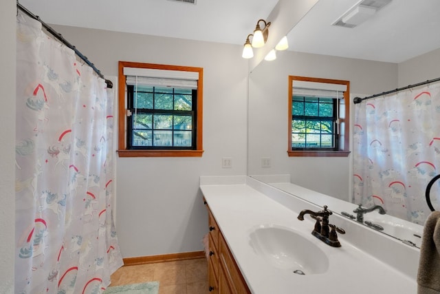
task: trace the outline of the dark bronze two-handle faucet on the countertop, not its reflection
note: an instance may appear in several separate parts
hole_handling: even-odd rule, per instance
[[[324,210],[322,211],[311,211],[309,209],[304,209],[298,215],[298,220],[304,220],[304,216],[306,214],[309,214],[316,220],[315,228],[313,231],[311,231],[312,235],[330,246],[341,246],[340,242],[338,241],[338,234],[336,232],[344,234],[345,231],[336,227],[334,224],[329,224],[329,216],[333,214],[333,212],[327,210],[327,205],[324,205]]]

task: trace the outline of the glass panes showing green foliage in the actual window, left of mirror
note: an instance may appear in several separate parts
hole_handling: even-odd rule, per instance
[[[197,90],[127,86],[129,149],[195,149]]]

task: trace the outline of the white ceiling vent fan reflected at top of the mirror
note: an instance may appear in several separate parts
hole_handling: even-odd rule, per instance
[[[342,14],[332,25],[354,28],[356,25],[360,25],[367,19],[373,17],[377,11],[381,10],[390,2],[391,0],[361,0]]]

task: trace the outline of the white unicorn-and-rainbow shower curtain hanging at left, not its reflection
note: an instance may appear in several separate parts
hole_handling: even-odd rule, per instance
[[[122,266],[113,92],[21,12],[16,117],[15,293],[101,293]]]

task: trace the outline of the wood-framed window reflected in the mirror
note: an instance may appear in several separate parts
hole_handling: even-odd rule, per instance
[[[289,156],[348,156],[349,83],[289,76]]]

